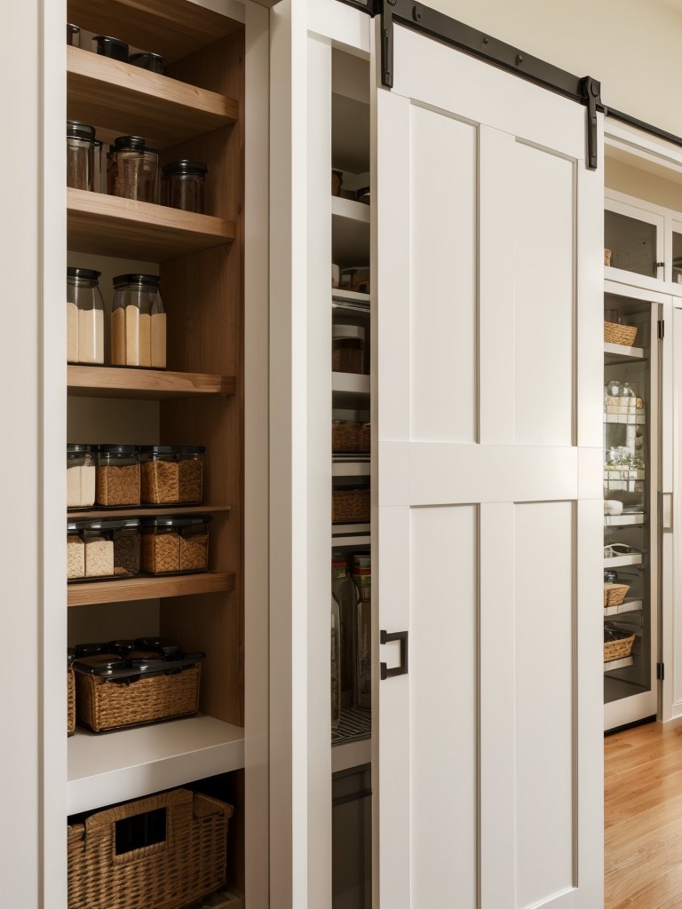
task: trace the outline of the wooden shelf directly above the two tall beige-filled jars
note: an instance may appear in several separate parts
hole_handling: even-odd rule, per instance
[[[69,249],[163,262],[235,239],[235,223],[115,195],[66,190]]]

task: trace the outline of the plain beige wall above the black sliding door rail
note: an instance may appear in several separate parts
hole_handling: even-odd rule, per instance
[[[606,105],[682,135],[682,0],[426,5],[575,75],[599,79]]]

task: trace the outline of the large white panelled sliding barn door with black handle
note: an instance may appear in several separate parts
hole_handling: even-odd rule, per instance
[[[602,906],[600,171],[400,26],[376,92],[375,905]],[[600,150],[601,153],[601,150]]]

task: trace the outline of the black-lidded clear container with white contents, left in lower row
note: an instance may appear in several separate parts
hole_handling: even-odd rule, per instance
[[[69,581],[134,577],[140,570],[139,518],[70,522],[67,554]]]

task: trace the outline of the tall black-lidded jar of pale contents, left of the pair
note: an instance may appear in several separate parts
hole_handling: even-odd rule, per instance
[[[105,362],[105,305],[99,291],[100,272],[66,269],[66,360],[102,365]]]

